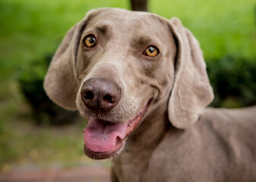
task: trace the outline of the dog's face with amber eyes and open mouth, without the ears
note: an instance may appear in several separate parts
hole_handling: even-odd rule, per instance
[[[110,11],[87,22],[77,53],[76,105],[88,118],[84,152],[92,158],[117,155],[174,76],[168,24],[152,14]]]

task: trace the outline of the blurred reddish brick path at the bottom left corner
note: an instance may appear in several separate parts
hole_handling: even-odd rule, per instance
[[[83,167],[0,173],[0,182],[109,182],[109,168]]]

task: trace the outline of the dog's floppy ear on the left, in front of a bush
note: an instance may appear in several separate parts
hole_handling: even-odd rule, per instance
[[[92,11],[88,12],[83,20],[68,30],[52,58],[47,71],[43,87],[46,94],[57,105],[68,110],[76,110],[75,99],[78,90],[75,64],[77,61],[78,46],[81,33],[87,21],[92,17]]]

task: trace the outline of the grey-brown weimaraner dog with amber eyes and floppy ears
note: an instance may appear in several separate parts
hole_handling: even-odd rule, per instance
[[[44,88],[87,118],[84,153],[112,158],[112,181],[256,181],[256,107],[206,108],[206,64],[178,18],[88,12],[63,39]]]

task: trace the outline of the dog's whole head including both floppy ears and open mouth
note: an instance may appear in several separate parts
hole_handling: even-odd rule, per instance
[[[59,46],[45,78],[49,98],[88,118],[84,152],[118,155],[157,105],[186,128],[213,99],[198,41],[177,18],[115,8],[90,11]]]

